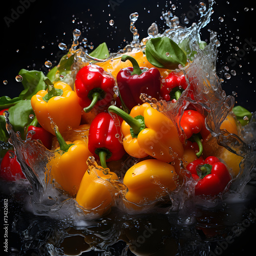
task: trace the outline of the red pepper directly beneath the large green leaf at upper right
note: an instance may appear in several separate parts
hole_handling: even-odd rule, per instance
[[[187,81],[183,73],[170,72],[163,81],[163,86],[160,91],[161,97],[166,101],[177,101],[182,92],[187,89]],[[194,99],[190,93],[191,99]]]

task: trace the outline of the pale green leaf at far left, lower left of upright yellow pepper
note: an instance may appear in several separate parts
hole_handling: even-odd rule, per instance
[[[13,131],[19,131],[22,138],[25,139],[25,127],[33,121],[29,115],[35,115],[30,100],[20,100],[14,106],[11,106],[8,112]]]

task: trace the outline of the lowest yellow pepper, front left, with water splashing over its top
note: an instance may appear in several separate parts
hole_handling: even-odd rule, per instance
[[[109,169],[98,165],[92,156],[89,157],[87,164],[90,169],[82,177],[76,201],[83,207],[84,212],[102,216],[112,207],[111,190],[114,188],[110,180],[118,180],[118,177],[115,173],[109,172]]]

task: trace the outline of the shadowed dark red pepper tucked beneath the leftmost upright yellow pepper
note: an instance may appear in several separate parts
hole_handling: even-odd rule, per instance
[[[34,117],[31,125],[29,125],[28,127],[27,133],[29,131],[34,131],[35,133],[32,135],[31,139],[40,140],[42,144],[46,148],[48,148],[48,150],[51,150],[53,135],[48,131],[46,131],[44,128],[37,127],[37,125],[38,125],[37,118]]]

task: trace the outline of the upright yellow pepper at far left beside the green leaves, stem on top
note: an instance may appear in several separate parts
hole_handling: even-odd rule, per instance
[[[48,89],[37,92],[31,98],[31,106],[39,124],[54,135],[51,122],[55,122],[59,131],[77,127],[81,121],[82,108],[76,93],[65,82],[55,82],[44,78]]]

